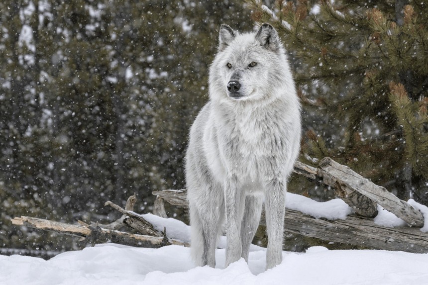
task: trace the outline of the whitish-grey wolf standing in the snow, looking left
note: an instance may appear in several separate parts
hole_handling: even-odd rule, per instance
[[[196,117],[186,153],[191,253],[215,267],[225,222],[225,266],[248,262],[266,211],[266,269],[282,262],[287,180],[300,151],[301,105],[277,31],[240,34],[221,25],[210,66],[209,101]]]

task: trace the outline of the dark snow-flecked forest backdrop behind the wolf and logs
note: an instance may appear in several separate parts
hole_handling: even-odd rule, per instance
[[[368,3],[366,3],[368,2]],[[304,111],[301,161],[325,156],[428,204],[428,8],[405,0],[2,0],[0,253],[87,246],[11,225],[118,218],[104,208],[183,189],[188,130],[208,100],[222,23],[274,25]],[[289,191],[330,189],[293,176]],[[182,212],[168,215],[186,220]],[[263,242],[263,233],[259,240]],[[288,236],[287,250],[318,241]]]

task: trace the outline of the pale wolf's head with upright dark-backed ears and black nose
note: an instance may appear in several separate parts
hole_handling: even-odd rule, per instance
[[[284,81],[288,78],[290,81]],[[271,25],[263,24],[257,32],[247,34],[220,26],[218,52],[210,68],[213,99],[269,99],[289,84],[293,82],[287,57]]]

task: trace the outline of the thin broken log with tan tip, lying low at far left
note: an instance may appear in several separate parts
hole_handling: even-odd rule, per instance
[[[174,239],[167,239],[166,235],[164,237],[154,237],[147,235],[131,234],[116,230],[107,230],[94,225],[85,225],[84,223],[82,223],[81,225],[71,225],[26,216],[15,217],[11,221],[14,225],[26,226],[35,229],[54,231],[61,234],[83,237],[91,243],[113,242],[129,246],[149,248],[159,248],[171,244],[189,247],[188,243]]]

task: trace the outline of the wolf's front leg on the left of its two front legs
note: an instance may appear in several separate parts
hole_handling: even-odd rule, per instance
[[[226,267],[241,257],[240,228],[244,209],[244,195],[238,189],[237,179],[228,179],[224,188],[226,208]]]

